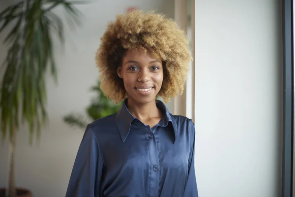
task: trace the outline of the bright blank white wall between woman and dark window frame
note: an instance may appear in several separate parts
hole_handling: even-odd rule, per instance
[[[200,197],[280,197],[282,4],[195,2]]]

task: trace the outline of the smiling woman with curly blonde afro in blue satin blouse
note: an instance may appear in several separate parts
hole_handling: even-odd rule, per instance
[[[190,58],[163,15],[132,11],[108,25],[96,63],[102,91],[123,103],[88,125],[66,197],[198,197],[194,124],[156,99],[182,93]]]

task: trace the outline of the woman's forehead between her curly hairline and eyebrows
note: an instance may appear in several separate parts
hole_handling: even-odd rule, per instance
[[[153,60],[158,60],[162,62],[161,57],[159,57],[156,54],[152,54],[150,52],[145,52],[143,50],[136,50],[136,49],[128,49],[123,57],[123,62],[124,61],[129,61],[129,60],[134,60],[134,61],[153,61]]]

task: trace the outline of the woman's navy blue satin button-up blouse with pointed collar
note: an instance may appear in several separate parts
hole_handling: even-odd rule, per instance
[[[192,121],[156,100],[163,117],[150,129],[126,101],[87,126],[66,197],[198,197]]]

